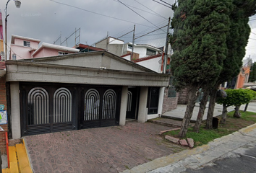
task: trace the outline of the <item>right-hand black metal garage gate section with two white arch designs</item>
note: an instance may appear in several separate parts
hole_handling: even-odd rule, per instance
[[[85,87],[81,92],[80,128],[98,128],[118,125],[120,111],[120,87]]]

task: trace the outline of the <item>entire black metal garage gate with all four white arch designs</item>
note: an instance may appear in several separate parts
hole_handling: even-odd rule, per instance
[[[118,125],[120,93],[119,87],[20,83],[22,136]]]

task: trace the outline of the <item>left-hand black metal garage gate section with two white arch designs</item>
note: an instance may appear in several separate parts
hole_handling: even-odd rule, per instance
[[[58,84],[20,84],[22,136],[77,128],[77,88]]]

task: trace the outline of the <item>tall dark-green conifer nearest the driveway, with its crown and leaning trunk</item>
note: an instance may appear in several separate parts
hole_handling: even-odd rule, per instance
[[[215,84],[222,71],[232,1],[179,0],[173,6],[171,72],[177,91],[189,89],[181,138],[186,136],[198,90]]]

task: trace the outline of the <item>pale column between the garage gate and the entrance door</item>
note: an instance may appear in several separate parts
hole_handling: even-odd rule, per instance
[[[119,125],[125,125],[127,117],[127,99],[128,99],[128,86],[123,86],[121,89],[121,106],[120,106],[120,119]]]

